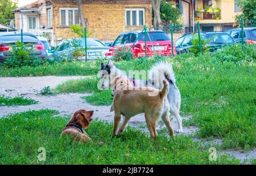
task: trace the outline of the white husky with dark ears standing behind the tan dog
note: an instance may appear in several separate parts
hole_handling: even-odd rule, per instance
[[[112,81],[115,76],[127,76],[127,74],[118,68],[116,68],[112,61],[110,60],[107,65],[104,65],[104,63],[101,63],[101,71],[100,71],[100,77],[101,77],[101,88],[107,89],[109,88],[110,81]],[[134,86],[144,87],[154,87],[156,89],[163,89],[163,80],[167,79],[169,82],[169,92],[167,95],[169,106],[170,106],[170,112],[175,116],[178,122],[178,129],[177,132],[181,133],[183,132],[182,128],[182,119],[180,117],[180,103],[181,103],[181,97],[180,97],[180,91],[179,88],[177,88],[175,84],[175,75],[174,71],[172,69],[172,65],[168,62],[158,62],[154,66],[151,67],[149,74],[148,74],[148,80],[135,80],[133,78],[129,78],[131,83],[134,84]],[[113,107],[110,111],[113,111]],[[163,127],[163,123],[161,123],[160,128]]]

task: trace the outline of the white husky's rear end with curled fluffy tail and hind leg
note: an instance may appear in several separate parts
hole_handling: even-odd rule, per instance
[[[167,80],[169,83],[169,92],[167,95],[170,112],[176,117],[179,128],[177,132],[183,132],[182,119],[180,117],[180,104],[181,96],[179,88],[176,86],[176,79],[174,70],[172,69],[171,63],[168,62],[158,62],[151,67],[149,72],[148,86],[157,89],[162,89],[164,87],[163,80]],[[160,127],[162,127],[161,124]]]

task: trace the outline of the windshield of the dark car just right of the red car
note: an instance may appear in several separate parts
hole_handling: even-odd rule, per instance
[[[228,33],[209,33],[205,35],[205,38],[210,40],[210,44],[230,44],[234,42]]]

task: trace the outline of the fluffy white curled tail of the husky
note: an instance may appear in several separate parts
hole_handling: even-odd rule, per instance
[[[157,70],[160,74],[163,74],[164,77],[169,81],[175,84],[175,75],[174,70],[172,69],[171,63],[160,61],[156,63],[155,66],[151,68],[151,70]]]

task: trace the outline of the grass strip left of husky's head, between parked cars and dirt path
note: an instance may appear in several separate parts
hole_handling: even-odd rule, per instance
[[[0,77],[94,75],[97,74],[99,66],[98,62],[82,61],[46,64],[38,67],[5,68],[1,66]]]

